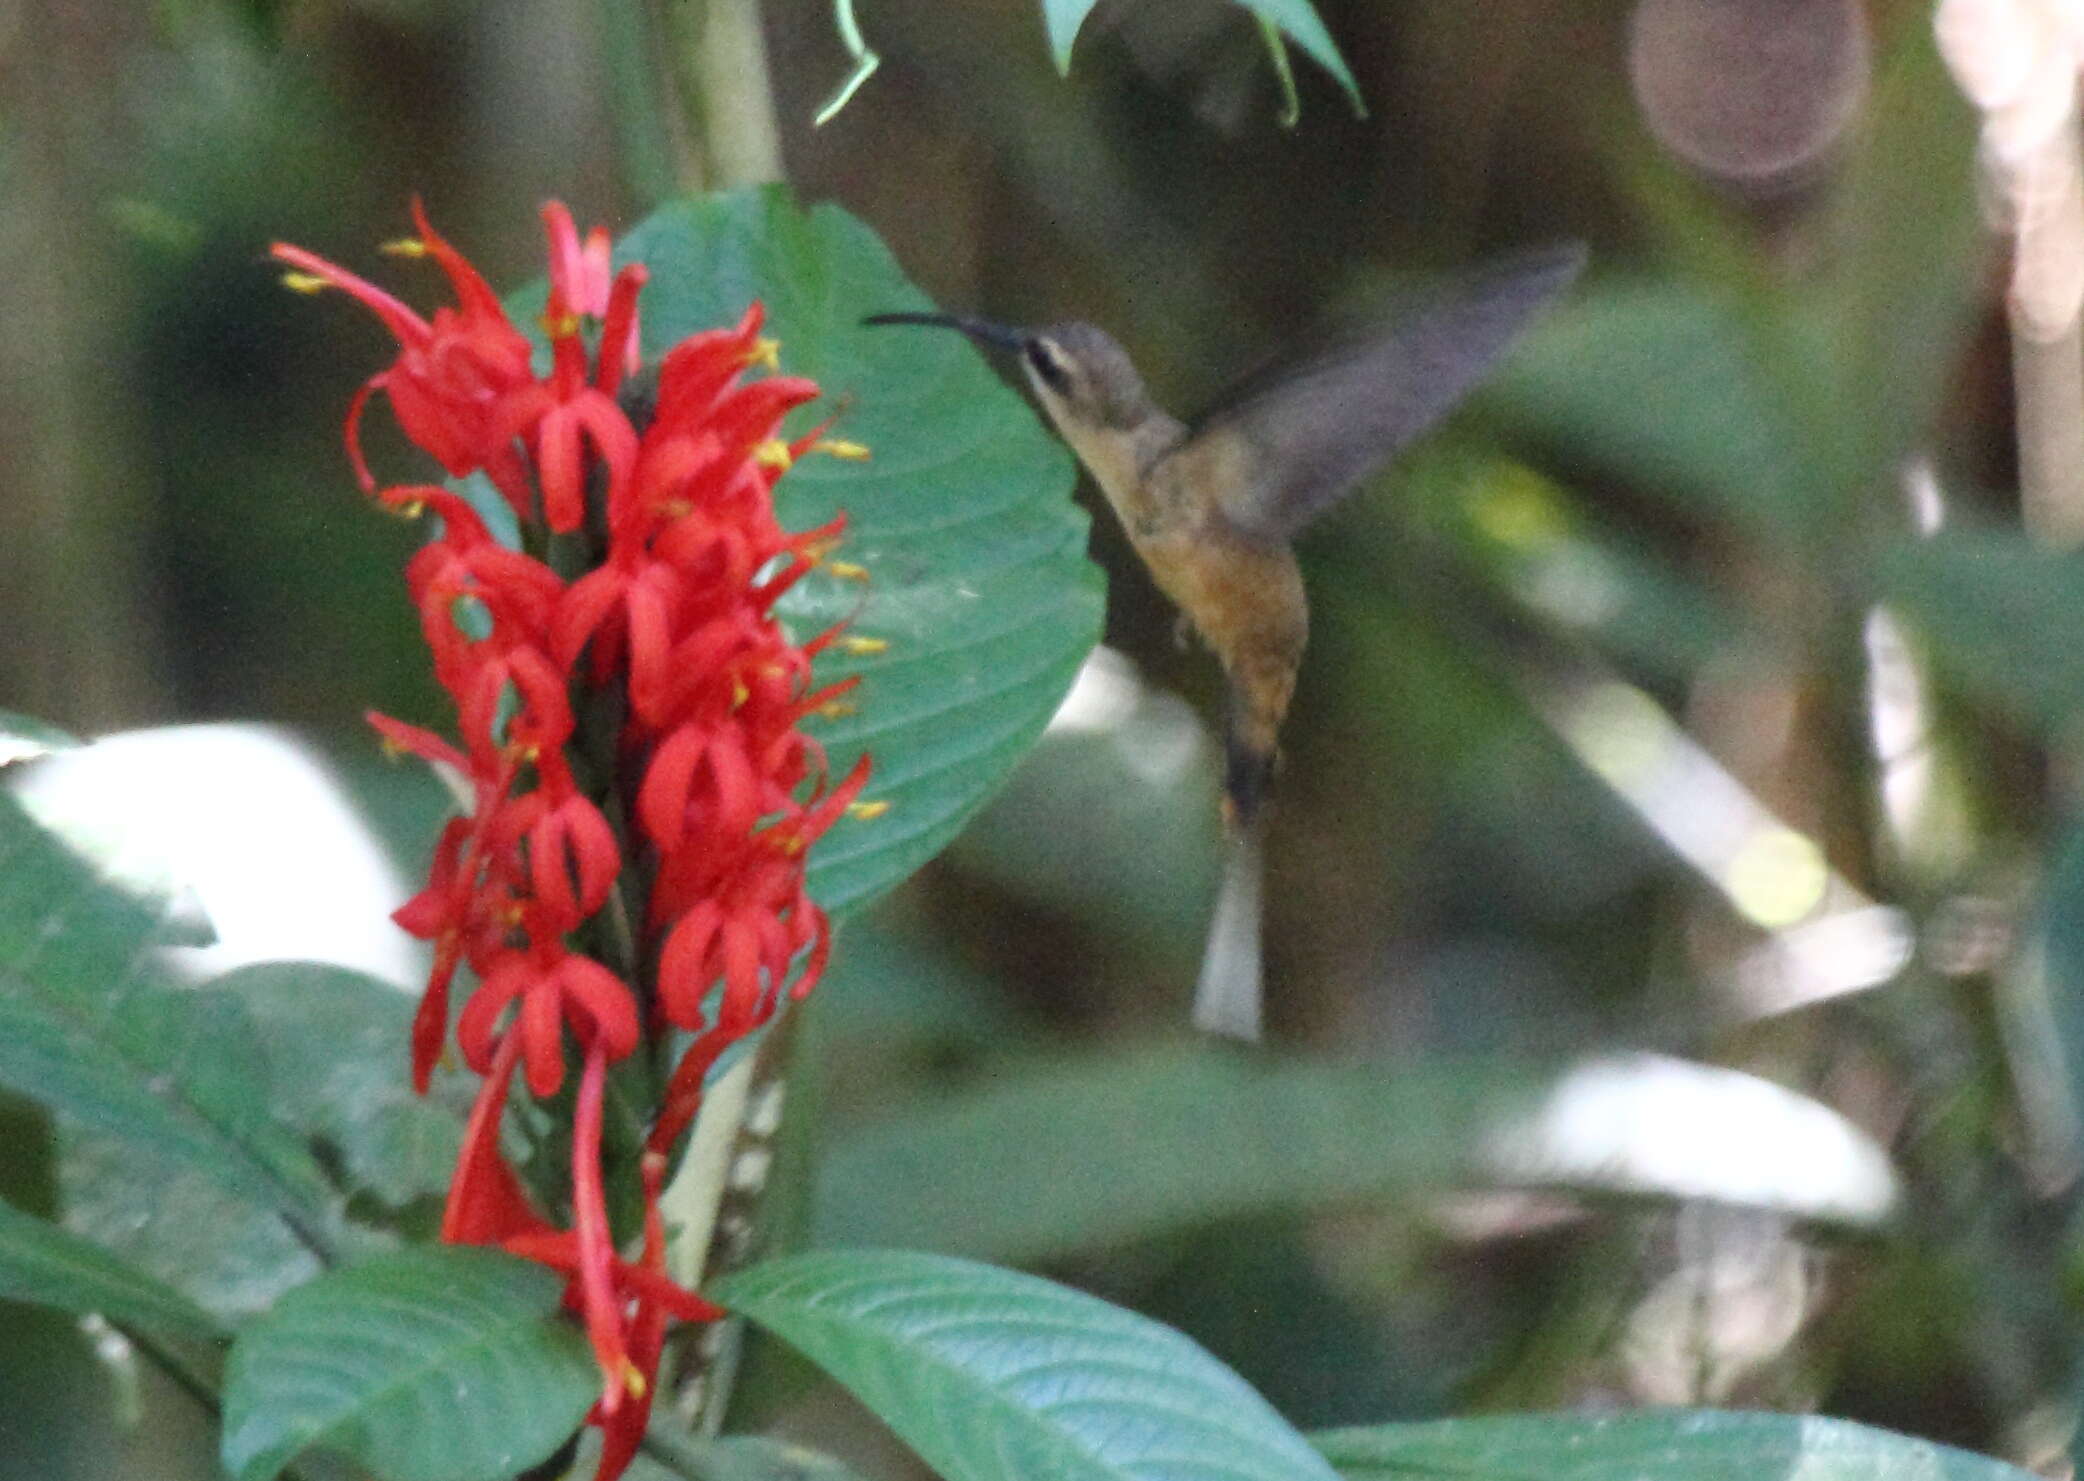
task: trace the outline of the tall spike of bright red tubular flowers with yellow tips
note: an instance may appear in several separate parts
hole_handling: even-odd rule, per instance
[[[665,1275],[669,1156],[717,1058],[825,967],[832,929],[804,889],[804,858],[854,804],[867,758],[832,781],[802,729],[846,687],[811,679],[838,629],[798,644],[773,610],[844,527],[790,533],[773,512],[775,481],[815,444],[815,433],[777,442],[782,419],[817,385],[744,379],[775,350],[752,304],[736,327],[665,354],[656,412],[634,425],[617,390],[638,369],[646,271],[611,271],[606,233],[581,242],[561,204],[542,215],[546,373],[417,202],[406,250],[433,256],[456,296],[431,319],[302,248],[273,252],[296,269],[294,285],[344,290],[398,340],[396,360],[348,408],[348,456],[383,506],[442,521],[408,562],[406,592],[458,739],[371,717],[388,746],[452,771],[471,798],[469,814],[442,829],[425,889],[396,912],[433,942],[413,1027],[421,1091],[448,1039],[452,985],[465,967],[475,977],[456,1046],[483,1087],[442,1237],[565,1273],[565,1300],[602,1369],[592,1421],[604,1431],[598,1481],[613,1481],[644,1433],[667,1323],[719,1314]],[[377,490],[361,450],[371,392],[450,475],[486,473],[529,548],[584,529],[577,544],[598,550],[598,564],[556,571],[511,550],[444,487]],[[619,704],[590,702],[598,692]],[[586,733],[581,717],[602,712],[621,714],[619,729]],[[615,775],[600,777],[602,764]],[[627,860],[644,867],[627,871]],[[644,1231],[631,1262],[609,1227],[602,1096],[613,1062],[659,1050],[671,1029],[696,1037],[636,1169]],[[561,1229],[504,1160],[500,1123],[517,1069],[548,1100],[573,1060],[571,1221]]]

